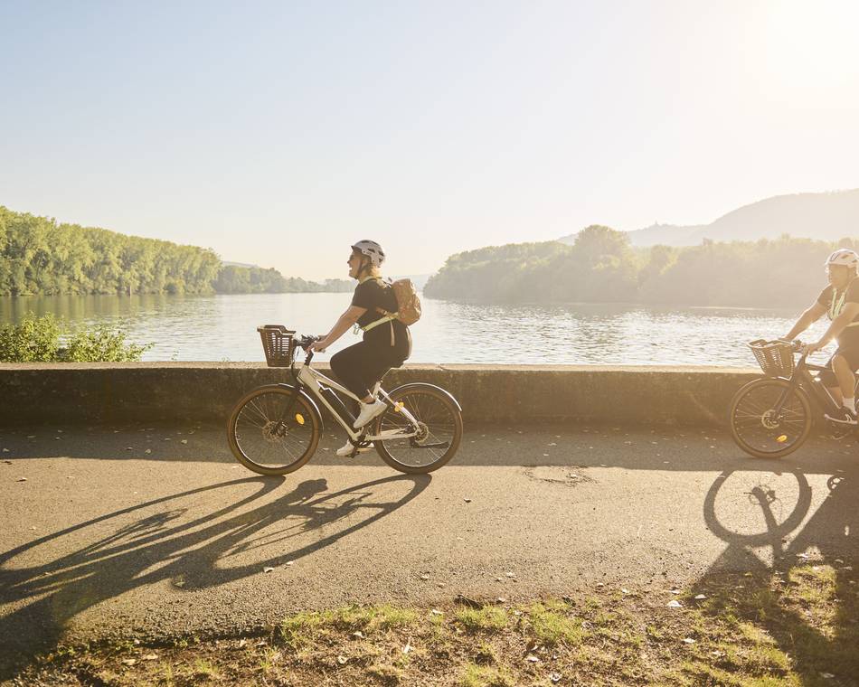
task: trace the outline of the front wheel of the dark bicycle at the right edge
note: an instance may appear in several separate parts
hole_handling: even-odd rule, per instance
[[[808,438],[811,404],[805,391],[791,388],[787,381],[750,381],[734,394],[730,423],[733,440],[750,456],[780,458]]]

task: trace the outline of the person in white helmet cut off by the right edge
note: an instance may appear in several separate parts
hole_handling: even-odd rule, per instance
[[[859,254],[851,249],[837,249],[826,260],[826,271],[829,286],[820,292],[815,301],[793,325],[788,335],[788,341],[795,339],[812,323],[817,322],[821,315],[828,315],[831,320],[826,334],[815,343],[806,346],[806,353],[814,353],[836,339],[838,349],[829,359],[832,372],[822,372],[822,381],[837,403],[844,406],[844,416],[826,419],[846,425],[856,423],[855,378],[854,372],[859,369],[859,278],[856,278],[859,268]]]

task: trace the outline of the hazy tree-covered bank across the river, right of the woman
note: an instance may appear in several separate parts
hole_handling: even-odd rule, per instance
[[[424,294],[505,305],[807,306],[826,286],[824,262],[839,247],[857,249],[859,240],[782,236],[634,248],[625,232],[592,225],[572,245],[512,243],[453,255]]]

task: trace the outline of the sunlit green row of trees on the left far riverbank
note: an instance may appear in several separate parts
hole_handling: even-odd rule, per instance
[[[286,278],[223,264],[211,249],[61,223],[0,205],[0,296],[351,291],[346,279]]]

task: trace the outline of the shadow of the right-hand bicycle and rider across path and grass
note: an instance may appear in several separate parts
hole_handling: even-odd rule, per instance
[[[707,590],[704,612],[762,627],[804,684],[854,685],[859,479],[830,476],[824,488],[826,494],[814,494],[796,469],[770,475],[725,470],[706,495],[703,517],[728,546],[693,588]],[[813,503],[819,505],[812,512]],[[740,624],[737,630],[741,644],[746,633]],[[704,673],[694,677],[703,680]]]

